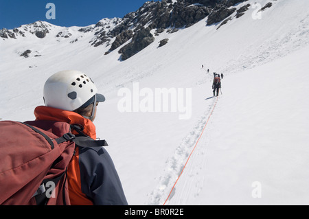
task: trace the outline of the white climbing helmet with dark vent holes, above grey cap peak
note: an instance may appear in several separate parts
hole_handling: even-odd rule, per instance
[[[93,103],[91,100],[104,102],[105,97],[97,91],[86,74],[80,71],[60,71],[45,82],[44,101],[49,107],[75,111],[87,102]]]

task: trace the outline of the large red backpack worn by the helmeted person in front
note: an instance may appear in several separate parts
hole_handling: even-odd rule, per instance
[[[70,205],[73,139],[65,122],[0,122],[0,205]]]

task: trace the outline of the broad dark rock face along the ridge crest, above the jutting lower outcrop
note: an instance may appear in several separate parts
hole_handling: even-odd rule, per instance
[[[196,3],[193,2],[192,3]],[[111,51],[126,43],[132,36],[119,36],[122,32],[134,30],[135,32],[148,25],[150,30],[157,29],[157,34],[163,32],[165,29],[170,28],[175,31],[181,27],[190,27],[194,23],[204,19],[211,9],[205,5],[212,5],[215,0],[204,1],[205,5],[198,4],[192,5],[190,1],[177,1],[172,3],[169,1],[147,1],[136,12],[130,12],[124,16],[122,21],[107,33],[110,37],[116,37],[112,43]],[[171,31],[174,32],[174,31]]]

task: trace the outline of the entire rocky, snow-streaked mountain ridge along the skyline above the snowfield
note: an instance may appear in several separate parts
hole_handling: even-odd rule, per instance
[[[101,45],[109,47],[106,55],[130,41],[118,51],[122,55],[122,60],[126,60],[150,45],[155,41],[155,36],[165,30],[168,33],[173,33],[180,28],[190,27],[207,16],[206,25],[220,24],[219,28],[231,19],[231,14],[234,12],[237,13],[236,18],[239,18],[248,10],[250,5],[244,5],[237,11],[234,7],[244,1],[247,0],[147,1],[137,11],[126,14],[122,19],[102,19],[95,25],[79,27],[78,32],[92,34],[93,37],[89,43],[93,47]],[[265,5],[265,8],[268,7],[271,7],[271,3]],[[13,30],[3,28],[0,30],[0,38],[3,40],[16,39],[29,34],[37,38],[45,38],[53,32],[54,27],[50,23],[37,21]],[[155,32],[155,36],[151,32]],[[53,32],[53,34],[55,33]],[[58,38],[58,41],[61,38],[73,38],[70,43],[76,43],[78,38],[75,35],[71,27],[63,27],[63,30],[57,32],[54,37]],[[161,46],[167,42],[165,41]]]

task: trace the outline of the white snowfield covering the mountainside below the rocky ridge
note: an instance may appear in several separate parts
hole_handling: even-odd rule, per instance
[[[255,2],[273,5],[256,19]],[[235,7],[248,3],[218,30],[206,18],[163,32],[125,61],[119,49],[104,56],[109,47],[91,47],[91,33],[78,27],[52,25],[43,39],[0,38],[0,117],[34,119],[45,80],[77,69],[106,96],[95,126],[130,205],[309,205],[309,1]],[[65,30],[73,36],[55,37]],[[168,44],[158,48],[164,38]],[[29,58],[20,56],[26,49]],[[214,71],[225,75],[215,107]],[[120,113],[117,93],[133,91],[135,82],[151,91],[192,89],[192,116]]]

